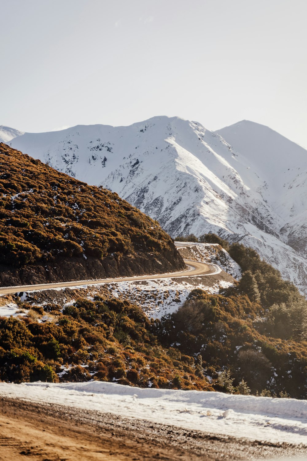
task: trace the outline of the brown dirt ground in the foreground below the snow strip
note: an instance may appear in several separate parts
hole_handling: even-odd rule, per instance
[[[253,442],[60,405],[0,399],[0,460],[221,461],[304,456],[306,446]]]

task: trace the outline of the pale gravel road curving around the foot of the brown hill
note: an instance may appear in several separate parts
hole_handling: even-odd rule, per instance
[[[64,287],[73,287],[80,285],[95,285],[95,284],[110,284],[115,282],[138,282],[141,280],[157,280],[159,278],[177,278],[177,277],[195,277],[196,275],[213,275],[220,272],[219,268],[214,264],[203,263],[198,261],[184,260],[186,266],[189,269],[186,269],[181,272],[169,272],[167,274],[157,274],[157,275],[139,275],[133,277],[119,277],[119,278],[104,278],[96,280],[74,280],[72,282],[56,282],[51,284],[41,284],[41,285],[23,285],[23,286],[13,286],[13,287],[2,287],[0,288],[0,295],[10,295],[12,293],[17,293],[20,291],[34,291],[34,290],[48,290],[51,288],[64,288]]]

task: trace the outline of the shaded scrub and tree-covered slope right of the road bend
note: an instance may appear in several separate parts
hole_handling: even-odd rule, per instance
[[[182,237],[195,241],[195,236]],[[194,290],[177,313],[156,321],[162,343],[199,355],[215,388],[262,396],[307,398],[307,301],[252,248],[214,234],[243,271],[212,296]]]

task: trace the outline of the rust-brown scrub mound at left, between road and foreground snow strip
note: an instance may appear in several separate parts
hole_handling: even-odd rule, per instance
[[[128,301],[79,299],[30,307],[22,320],[0,318],[0,379],[88,381],[213,390],[191,355],[162,347],[143,311]],[[49,321],[38,322],[42,315]],[[60,375],[60,377],[58,376]]]

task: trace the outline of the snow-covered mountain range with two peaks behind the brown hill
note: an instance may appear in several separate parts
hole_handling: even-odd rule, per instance
[[[307,151],[266,126],[154,117],[25,133],[12,147],[117,192],[173,237],[212,231],[251,246],[307,293]]]

